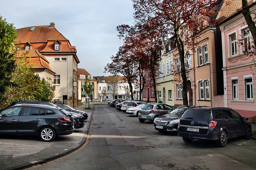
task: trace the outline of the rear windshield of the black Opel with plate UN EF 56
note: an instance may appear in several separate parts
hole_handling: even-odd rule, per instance
[[[188,109],[185,111],[182,119],[211,120],[212,114],[210,110]]]

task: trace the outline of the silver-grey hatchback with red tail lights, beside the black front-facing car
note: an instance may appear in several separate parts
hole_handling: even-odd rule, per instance
[[[164,115],[172,110],[173,108],[167,104],[160,104],[160,103],[145,104],[139,110],[138,118],[140,122],[144,122],[145,120],[154,121],[156,117]]]

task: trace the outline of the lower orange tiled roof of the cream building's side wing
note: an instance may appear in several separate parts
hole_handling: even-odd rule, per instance
[[[33,64],[34,69],[44,68],[52,72],[52,74],[55,74],[55,72],[53,72],[52,69],[50,68],[49,61],[44,57],[44,55],[40,54],[38,51],[20,50],[18,55],[19,56],[26,55],[27,57],[31,57],[30,64]]]

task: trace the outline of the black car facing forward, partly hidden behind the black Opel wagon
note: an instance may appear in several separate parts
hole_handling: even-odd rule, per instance
[[[178,132],[178,123],[180,117],[188,109],[195,106],[178,106],[176,109],[169,111],[167,114],[156,117],[154,119],[154,128],[157,131],[166,131],[166,132]]]

